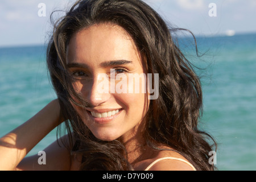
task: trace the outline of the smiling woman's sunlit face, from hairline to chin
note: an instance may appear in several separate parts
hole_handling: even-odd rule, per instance
[[[75,108],[94,136],[126,140],[134,135],[149,102],[142,91],[146,72],[129,34],[113,24],[83,29],[68,44],[67,65],[77,92],[92,105]]]

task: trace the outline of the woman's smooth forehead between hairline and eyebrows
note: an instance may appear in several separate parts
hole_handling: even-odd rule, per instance
[[[74,34],[67,48],[67,62],[138,60],[139,52],[131,36],[120,26],[95,24]]]

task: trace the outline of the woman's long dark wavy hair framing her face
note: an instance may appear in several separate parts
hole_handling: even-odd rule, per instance
[[[123,144],[94,137],[72,106],[79,105],[74,98],[81,107],[89,103],[72,86],[65,58],[67,46],[73,34],[99,23],[123,27],[143,55],[148,73],[159,74],[159,97],[150,101],[144,119],[146,145],[154,150],[171,147],[197,170],[213,170],[208,154],[216,142],[197,126],[203,113],[200,79],[171,36],[181,29],[168,28],[156,11],[139,0],[80,0],[55,22],[47,65],[69,138],[75,136],[72,154],[83,156],[81,169],[132,169]]]

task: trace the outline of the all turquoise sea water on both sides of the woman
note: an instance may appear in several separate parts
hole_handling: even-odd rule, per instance
[[[183,39],[187,42],[186,39]],[[191,41],[191,40],[189,40]],[[197,38],[183,51],[202,77],[204,114],[200,127],[218,143],[219,170],[256,170],[256,34]],[[44,46],[0,48],[0,136],[15,129],[56,98]],[[29,155],[56,139],[47,135]]]

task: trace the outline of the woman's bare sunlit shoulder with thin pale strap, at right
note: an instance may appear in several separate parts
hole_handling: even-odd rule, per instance
[[[160,151],[146,168],[150,171],[194,171],[195,168],[184,156],[175,151]]]

